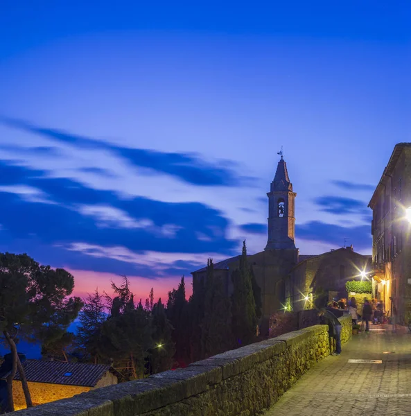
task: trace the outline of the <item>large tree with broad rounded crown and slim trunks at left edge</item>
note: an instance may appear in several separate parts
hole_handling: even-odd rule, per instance
[[[17,356],[19,339],[49,344],[62,338],[82,302],[69,297],[74,278],[64,269],[40,266],[27,254],[0,253],[0,334],[12,353],[8,410],[14,410],[12,379],[17,368],[28,407],[32,406],[24,368]]]

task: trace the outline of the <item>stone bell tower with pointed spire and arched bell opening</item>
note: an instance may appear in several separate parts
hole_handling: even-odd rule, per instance
[[[268,241],[265,250],[295,249],[295,197],[283,159],[277,165],[268,196]]]

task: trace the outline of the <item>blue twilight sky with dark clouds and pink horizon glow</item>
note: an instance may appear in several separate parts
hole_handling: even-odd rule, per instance
[[[267,241],[283,146],[296,245],[371,253],[411,141],[409,1],[0,3],[0,252],[143,301]]]

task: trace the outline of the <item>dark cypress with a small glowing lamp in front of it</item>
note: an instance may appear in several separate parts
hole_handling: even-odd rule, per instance
[[[170,370],[175,354],[175,343],[172,338],[173,327],[167,319],[161,298],[152,308],[152,331],[154,347],[150,357],[150,373],[155,374]]]

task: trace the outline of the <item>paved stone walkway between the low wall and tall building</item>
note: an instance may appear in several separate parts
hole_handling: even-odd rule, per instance
[[[390,354],[384,354],[390,352]],[[348,363],[382,360],[381,364]],[[317,363],[265,416],[411,415],[411,333],[371,325]]]

